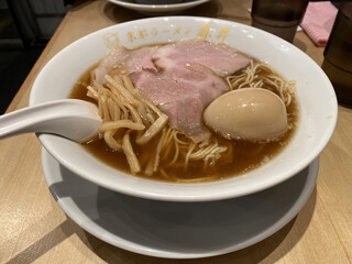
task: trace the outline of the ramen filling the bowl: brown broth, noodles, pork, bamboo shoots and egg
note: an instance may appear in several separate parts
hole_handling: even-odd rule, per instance
[[[246,88],[250,94],[241,91]],[[276,113],[261,96],[263,89],[283,106],[276,108],[285,119],[279,133],[271,132]],[[295,81],[284,80],[266,64],[224,44],[191,40],[113,48],[81,76],[70,98],[99,107],[103,124],[82,144],[95,156],[135,176],[196,183],[243,174],[277,155],[298,121],[294,91]],[[230,92],[231,98],[219,98]],[[217,99],[230,100],[222,127],[216,106],[222,101]],[[212,113],[205,114],[207,124],[205,110]],[[265,111],[270,118],[256,116]]]

